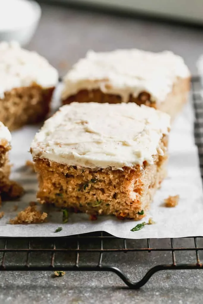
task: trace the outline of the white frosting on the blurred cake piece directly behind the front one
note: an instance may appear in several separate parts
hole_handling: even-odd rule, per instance
[[[82,89],[99,88],[104,93],[120,95],[127,102],[145,91],[151,100],[162,102],[171,92],[177,77],[187,78],[190,72],[183,58],[169,51],[142,50],[89,51],[66,74],[62,99]]]

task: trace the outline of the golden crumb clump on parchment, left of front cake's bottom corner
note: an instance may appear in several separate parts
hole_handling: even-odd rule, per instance
[[[47,218],[47,213],[37,211],[36,206],[29,206],[23,211],[20,211],[14,219],[10,219],[10,224],[37,224],[44,223]]]

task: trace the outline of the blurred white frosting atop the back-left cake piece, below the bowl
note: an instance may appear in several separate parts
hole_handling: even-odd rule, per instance
[[[22,49],[17,42],[0,43],[0,98],[12,88],[36,83],[43,88],[58,83],[58,72],[36,52]]]

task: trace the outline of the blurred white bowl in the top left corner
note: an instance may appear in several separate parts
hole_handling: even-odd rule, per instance
[[[0,41],[28,44],[41,17],[40,5],[35,1],[0,1]]]

